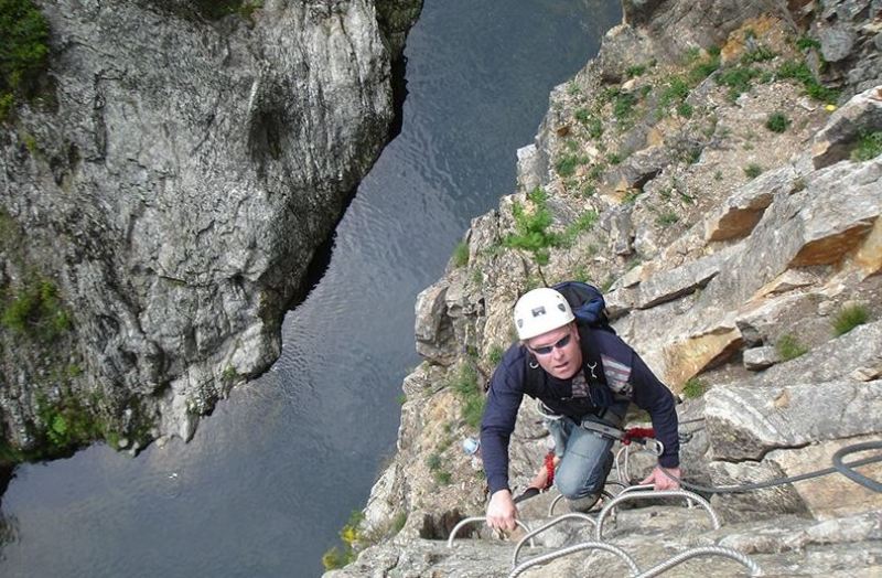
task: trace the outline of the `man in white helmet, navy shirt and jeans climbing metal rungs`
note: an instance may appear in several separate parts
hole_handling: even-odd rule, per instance
[[[570,511],[587,512],[613,464],[614,438],[631,402],[646,409],[664,445],[658,464],[641,483],[676,490],[667,471],[681,478],[677,413],[670,390],[641,357],[612,331],[577,323],[564,297],[550,288],[534,289],[515,304],[514,343],[496,367],[481,424],[481,448],[491,500],[487,525],[514,529],[517,507],[508,486],[508,440],[524,394],[541,403],[555,441],[547,473]],[[607,429],[609,431],[609,429]],[[542,471],[531,482],[541,484]]]

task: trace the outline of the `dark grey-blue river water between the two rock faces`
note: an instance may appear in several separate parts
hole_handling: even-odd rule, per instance
[[[18,469],[2,497],[9,577],[312,577],[395,449],[419,363],[413,302],[471,218],[514,191],[550,88],[619,22],[614,1],[427,0],[400,136],[290,312],[284,351],[194,440],[129,459],[96,446]],[[2,542],[3,533],[0,533]]]

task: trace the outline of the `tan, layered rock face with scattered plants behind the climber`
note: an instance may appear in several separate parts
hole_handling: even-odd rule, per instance
[[[882,83],[865,85],[879,71],[868,41],[882,7],[649,0],[624,8],[625,23],[606,34],[598,57],[552,92],[536,141],[518,151],[518,189],[472,222],[467,266],[451,263],[420,296],[416,334],[426,363],[405,381],[399,453],[366,510],[373,540],[329,576],[512,571],[520,535],[501,542],[478,525],[471,537],[483,539],[458,539],[452,549],[439,540],[451,522],[485,511],[481,462],[458,441],[476,434],[465,409],[514,340],[515,300],[533,287],[577,278],[604,289],[615,330],[684,398],[680,458],[693,484],[829,468],[841,448],[882,437],[882,154],[878,146],[856,152],[882,135]],[[818,77],[821,56],[828,64]],[[838,106],[825,106],[832,100]],[[529,221],[537,214],[551,224]],[[545,247],[515,248],[530,227]],[[644,424],[633,416],[631,425]],[[534,405],[521,404],[509,448],[515,493],[541,464],[547,438]],[[623,475],[641,479],[654,461],[634,456]],[[882,465],[860,471],[879,480]],[[546,523],[555,494],[521,503],[520,518],[533,528]],[[708,529],[700,509],[653,505],[619,511],[604,542],[642,571],[711,545],[750,555],[766,575],[882,571],[882,494],[845,475],[710,501],[719,529]],[[401,516],[397,532],[389,520]],[[594,537],[592,526],[570,521],[520,556]],[[674,571],[743,575],[714,557]],[[601,572],[633,568],[587,550],[527,575]]]

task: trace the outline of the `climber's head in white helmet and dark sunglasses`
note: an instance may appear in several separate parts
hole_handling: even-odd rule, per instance
[[[560,379],[572,377],[582,366],[574,320],[570,304],[553,289],[534,289],[515,304],[518,339],[542,370]]]

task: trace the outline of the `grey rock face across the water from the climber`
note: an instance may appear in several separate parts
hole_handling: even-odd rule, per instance
[[[2,434],[33,449],[76,405],[105,432],[189,438],[278,356],[389,138],[390,62],[421,1],[37,4],[51,88],[0,131],[2,216],[28,238],[0,280],[52,279],[73,329],[42,349],[76,371],[4,332]]]

